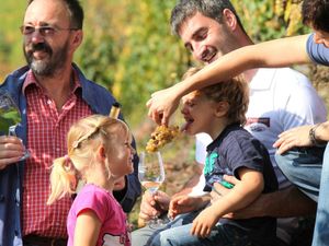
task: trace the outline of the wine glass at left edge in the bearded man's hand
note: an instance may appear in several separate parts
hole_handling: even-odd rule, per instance
[[[15,128],[21,122],[21,112],[10,96],[10,94],[3,90],[0,91],[0,132],[8,132],[9,136],[16,136]],[[30,156],[30,152],[25,150],[24,155],[20,161]]]

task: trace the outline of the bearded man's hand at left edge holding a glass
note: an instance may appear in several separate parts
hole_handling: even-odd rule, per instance
[[[19,162],[24,151],[25,148],[19,138],[0,136],[0,169]]]

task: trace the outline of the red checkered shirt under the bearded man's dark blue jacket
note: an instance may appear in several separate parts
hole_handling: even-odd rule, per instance
[[[47,206],[46,201],[53,161],[67,154],[66,137],[69,127],[81,117],[92,114],[81,98],[77,74],[73,78],[73,90],[60,112],[37,84],[31,71],[24,81],[27,149],[31,157],[26,160],[23,179],[23,235],[67,237],[66,220],[71,199],[64,198],[52,206]]]

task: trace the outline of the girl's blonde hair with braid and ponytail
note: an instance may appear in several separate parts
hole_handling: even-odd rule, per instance
[[[52,192],[47,204],[76,192],[78,180],[83,179],[84,173],[94,165],[99,147],[103,144],[106,151],[113,150],[120,129],[132,138],[125,122],[102,115],[88,116],[70,127],[67,136],[68,154],[56,159],[53,164]],[[107,173],[111,175],[109,167]]]

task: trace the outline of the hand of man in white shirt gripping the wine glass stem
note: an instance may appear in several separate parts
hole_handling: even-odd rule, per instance
[[[169,202],[170,197],[161,190],[158,190],[154,196],[150,192],[145,192],[141,198],[139,219],[149,221],[156,215],[160,215],[168,211]]]

